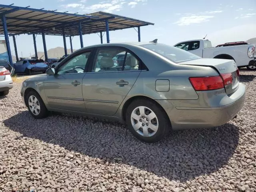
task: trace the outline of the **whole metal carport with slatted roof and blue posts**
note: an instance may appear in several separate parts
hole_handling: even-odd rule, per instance
[[[154,25],[150,22],[136,20],[124,16],[106,12],[94,12],[91,14],[77,14],[58,12],[57,10],[34,9],[0,4],[0,34],[4,34],[7,52],[12,65],[9,36],[13,36],[16,59],[18,60],[15,36],[19,34],[32,34],[34,40],[35,55],[36,34],[41,34],[44,45],[45,60],[48,60],[45,35],[63,36],[65,55],[67,55],[66,37],[70,37],[72,50],[72,36],[80,36],[81,48],[83,45],[83,34],[100,33],[101,43],[102,32],[106,32],[107,43],[110,42],[109,31],[126,28],[138,28],[138,41],[140,41],[140,27]]]

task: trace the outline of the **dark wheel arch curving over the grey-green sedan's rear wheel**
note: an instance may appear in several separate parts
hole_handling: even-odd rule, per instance
[[[170,122],[170,125],[172,126],[171,124],[171,120],[170,118],[168,117],[168,114],[166,113],[166,110],[164,110],[164,108],[158,103],[156,102],[154,99],[152,98],[149,98],[147,96],[133,96],[131,98],[129,98],[128,100],[126,100],[126,102],[124,103],[124,105],[122,106],[122,120],[124,122],[126,122],[126,110],[128,108],[128,106],[134,101],[134,100],[137,100],[137,99],[146,99],[146,100],[150,100],[152,102],[154,102],[157,106],[159,106],[163,111],[164,113],[166,114],[166,117],[168,118],[169,122]]]

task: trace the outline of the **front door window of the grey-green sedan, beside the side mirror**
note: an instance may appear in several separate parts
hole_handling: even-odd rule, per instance
[[[89,56],[90,52],[74,56],[59,68],[58,74],[83,73]]]

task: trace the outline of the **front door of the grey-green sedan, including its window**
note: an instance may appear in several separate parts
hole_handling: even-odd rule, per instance
[[[76,54],[60,64],[55,75],[46,77],[44,90],[49,107],[85,112],[82,81],[89,55],[90,51]]]

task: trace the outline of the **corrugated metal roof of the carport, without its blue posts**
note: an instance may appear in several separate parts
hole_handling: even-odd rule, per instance
[[[0,4],[0,16],[3,14],[6,17],[10,35],[41,34],[42,31],[46,35],[62,35],[62,28],[64,28],[66,36],[76,36],[79,35],[78,22],[81,22],[82,34],[104,32],[106,19],[108,19],[109,30],[154,25],[150,22],[101,11],[82,15]],[[4,34],[2,24],[0,24],[0,34]]]

